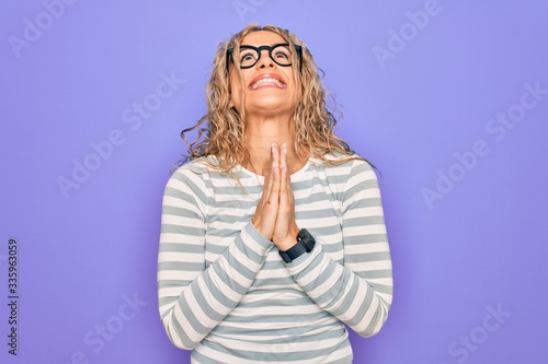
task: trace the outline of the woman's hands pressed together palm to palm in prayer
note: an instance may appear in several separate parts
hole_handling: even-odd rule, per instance
[[[272,168],[264,179],[263,195],[251,223],[281,250],[297,243],[299,228],[295,222],[295,199],[287,168],[287,144],[271,145]]]

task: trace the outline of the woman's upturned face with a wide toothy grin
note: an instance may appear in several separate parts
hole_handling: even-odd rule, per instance
[[[248,34],[243,37],[241,46],[272,46],[274,44],[287,43],[276,33],[260,31]],[[295,51],[295,50],[293,50]],[[287,62],[286,51],[273,51],[279,63]],[[240,57],[243,62],[248,61],[252,55],[242,49]],[[290,61],[290,59],[288,60]],[[243,63],[242,62],[242,63]],[[293,68],[296,64],[282,67],[269,57],[269,50],[261,50],[261,58],[251,68],[241,69],[243,77],[243,93],[246,94],[246,114],[249,115],[293,115],[297,107],[297,90],[293,75]],[[298,67],[298,66],[297,66]],[[236,66],[230,66],[230,106],[235,106],[241,113],[241,83],[236,70]]]

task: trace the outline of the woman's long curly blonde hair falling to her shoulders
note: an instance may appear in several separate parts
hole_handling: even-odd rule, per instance
[[[332,111],[328,109],[326,90],[321,83],[312,55],[307,46],[287,30],[282,30],[274,25],[250,25],[241,32],[235,34],[229,40],[219,45],[215,55],[212,77],[207,84],[207,114],[205,114],[193,127],[181,132],[181,137],[189,148],[189,155],[182,163],[204,156],[216,156],[218,163],[214,167],[221,172],[229,173],[236,165],[244,164],[249,161],[249,149],[244,140],[246,115],[243,107],[240,114],[235,107],[230,107],[230,82],[229,63],[231,58],[227,57],[228,49],[232,48],[233,54],[239,52],[239,47],[243,37],[253,32],[273,32],[281,35],[290,49],[295,45],[301,47],[300,57],[293,52],[293,73],[296,80],[297,90],[300,91],[300,102],[294,115],[294,146],[299,157],[316,157],[328,164],[339,164],[349,158],[361,158],[349,146],[346,142],[334,134],[336,119]],[[238,57],[233,57],[236,71],[240,77],[241,105],[244,103],[243,78],[238,64]],[[300,67],[297,67],[300,64]],[[334,108],[331,108],[334,110]],[[202,125],[207,122],[207,127]],[[186,133],[193,130],[198,131],[193,143],[189,143]],[[336,154],[336,160],[328,158],[328,153]]]

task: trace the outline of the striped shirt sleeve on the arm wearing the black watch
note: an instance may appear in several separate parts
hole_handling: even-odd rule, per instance
[[[331,259],[317,244],[287,268],[318,306],[359,336],[370,337],[388,317],[392,269],[380,190],[368,163],[354,162],[340,196],[344,262]]]

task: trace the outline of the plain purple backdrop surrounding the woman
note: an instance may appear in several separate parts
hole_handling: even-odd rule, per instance
[[[0,3],[1,363],[189,362],[158,316],[161,196],[217,44],[252,20],[311,48],[383,174],[395,301],[355,363],[546,363],[548,95],[523,96],[548,90],[545,1],[67,2]]]

